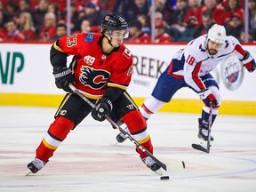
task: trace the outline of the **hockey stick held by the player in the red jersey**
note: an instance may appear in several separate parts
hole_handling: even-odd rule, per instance
[[[95,108],[95,105],[88,100],[84,94],[82,92],[79,92],[79,90],[76,89],[76,87],[73,84],[69,84],[69,88],[75,92],[81,99],[83,99],[88,105],[90,105],[92,108]],[[108,120],[108,122],[110,124],[112,124],[114,127],[116,127],[116,129],[118,129],[120,132],[122,132],[127,138],[129,138],[129,140],[131,140],[136,147],[140,148],[145,154],[147,154],[148,156],[150,156],[155,162],[156,164],[158,164],[159,166],[161,166],[165,171],[167,171],[167,167],[166,164],[162,163],[160,160],[158,160],[156,158],[156,156],[153,156],[148,150],[147,148],[144,148],[143,146],[140,145],[140,143],[133,139],[132,135],[129,134],[128,132],[125,132],[124,129],[122,129],[118,124],[116,124],[116,122],[114,122],[109,116],[106,116],[106,119]]]

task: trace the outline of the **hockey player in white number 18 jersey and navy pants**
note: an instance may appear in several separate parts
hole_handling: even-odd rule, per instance
[[[184,49],[174,54],[170,65],[159,76],[151,96],[140,106],[142,116],[148,119],[165,103],[170,102],[180,88],[189,87],[204,101],[202,116],[198,119],[198,137],[208,140],[210,106],[213,124],[221,103],[219,86],[210,72],[233,52],[249,72],[255,70],[255,60],[250,52],[245,51],[234,36],[226,36],[223,26],[215,24],[207,35],[190,41]],[[210,139],[213,140],[212,135]],[[123,142],[125,136],[120,133],[116,140]]]

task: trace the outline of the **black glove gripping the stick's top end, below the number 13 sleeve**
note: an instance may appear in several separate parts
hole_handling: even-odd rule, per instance
[[[59,89],[65,92],[72,92],[68,84],[74,84],[74,76],[70,68],[53,68],[55,84]]]

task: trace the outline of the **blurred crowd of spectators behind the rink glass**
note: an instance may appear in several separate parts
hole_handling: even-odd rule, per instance
[[[244,43],[244,0],[155,0],[151,31],[151,0],[70,0],[71,33],[100,32],[109,12],[129,23],[133,44],[188,42],[207,33],[214,23]],[[67,0],[0,0],[0,42],[54,42],[67,35]],[[256,44],[256,0],[249,0],[249,43]]]

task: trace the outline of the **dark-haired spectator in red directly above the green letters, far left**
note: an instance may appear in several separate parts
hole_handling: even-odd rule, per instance
[[[4,40],[21,43],[24,41],[25,37],[20,33],[17,23],[15,20],[8,20],[6,23],[7,36]]]

